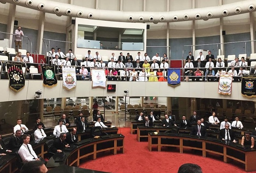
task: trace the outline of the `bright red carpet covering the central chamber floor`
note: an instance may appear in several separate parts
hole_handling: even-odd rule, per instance
[[[130,128],[121,128],[121,133],[125,136],[124,154],[99,153],[94,161],[81,160],[80,168],[113,173],[176,173],[180,165],[195,163],[201,166],[204,173],[245,172],[243,164],[236,161],[225,163],[219,155],[208,154],[208,157],[204,158],[201,156],[202,154],[194,153],[191,150],[185,150],[180,154],[175,147],[163,147],[161,152],[150,152],[148,151],[148,142],[138,142],[136,134],[130,133]],[[256,173],[256,171],[252,173]]]

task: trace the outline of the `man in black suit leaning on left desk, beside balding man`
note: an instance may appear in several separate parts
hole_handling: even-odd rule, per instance
[[[60,137],[56,138],[52,144],[51,151],[53,153],[61,153],[63,149],[70,147],[69,144],[65,141],[67,138],[66,133],[60,133]]]

